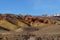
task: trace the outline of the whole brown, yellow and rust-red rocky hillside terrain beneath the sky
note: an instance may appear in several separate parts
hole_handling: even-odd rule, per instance
[[[53,40],[58,34],[60,17],[0,14],[0,40]]]

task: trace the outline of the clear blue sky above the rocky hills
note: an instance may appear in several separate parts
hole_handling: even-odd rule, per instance
[[[0,13],[52,15],[60,13],[60,0],[0,0]]]

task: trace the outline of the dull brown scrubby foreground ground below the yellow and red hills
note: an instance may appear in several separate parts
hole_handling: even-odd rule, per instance
[[[0,40],[60,40],[60,25],[45,28],[29,27],[22,28],[22,31],[0,32]]]

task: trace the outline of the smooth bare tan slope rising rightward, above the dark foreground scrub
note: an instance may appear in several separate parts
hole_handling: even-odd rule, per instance
[[[60,33],[60,25],[51,25],[51,26],[47,26],[45,28],[42,28],[38,31],[35,32],[31,32],[31,34],[56,34],[56,33]]]

